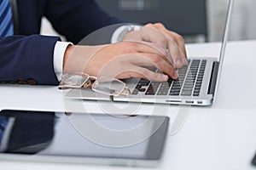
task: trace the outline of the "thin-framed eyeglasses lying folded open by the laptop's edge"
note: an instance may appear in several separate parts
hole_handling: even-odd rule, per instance
[[[122,82],[113,77],[90,77],[84,73],[67,73],[61,77],[60,89],[66,88],[91,88],[93,91],[106,94],[110,97],[129,95],[130,90]]]

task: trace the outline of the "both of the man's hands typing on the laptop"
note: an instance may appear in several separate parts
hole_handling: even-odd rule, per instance
[[[90,76],[137,77],[166,82],[177,79],[176,68],[187,65],[183,37],[161,24],[148,24],[128,32],[123,42],[101,46],[69,46],[64,56],[64,72],[84,72]],[[155,67],[161,73],[150,71]]]

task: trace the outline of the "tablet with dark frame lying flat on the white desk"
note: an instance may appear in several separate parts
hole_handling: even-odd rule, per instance
[[[0,160],[155,167],[169,118],[1,111],[0,124]]]

